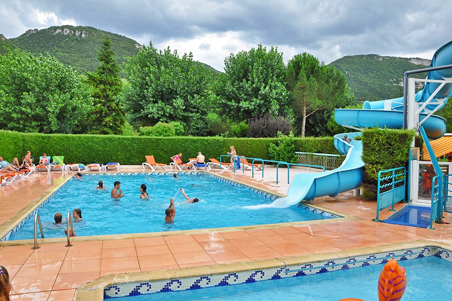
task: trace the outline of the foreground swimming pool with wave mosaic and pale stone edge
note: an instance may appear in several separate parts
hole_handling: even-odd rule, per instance
[[[419,246],[422,242],[413,242]],[[411,244],[411,243],[410,243]],[[402,244],[398,244],[401,246]],[[407,247],[407,244],[403,244]],[[444,246],[443,246],[444,247]],[[201,275],[199,270],[187,269],[162,275],[144,274],[131,281],[133,274],[128,274],[118,283],[121,275],[109,281],[116,284],[104,285],[103,299],[118,301],[135,300],[256,300],[256,299],[303,299],[303,300],[338,300],[342,298],[360,298],[376,300],[377,283],[381,269],[389,259],[396,259],[407,271],[407,289],[403,300],[427,300],[452,298],[452,252],[450,246],[422,246],[409,249],[372,253],[372,249],[351,251],[344,254],[316,254],[308,257],[281,258],[280,261],[254,262],[230,265],[231,272],[217,273],[218,266]],[[378,247],[377,247],[378,248]],[[362,255],[359,255],[362,254]],[[331,256],[339,256],[337,258]],[[319,260],[316,260],[318,258]],[[299,260],[299,263],[296,261]],[[259,265],[263,267],[260,268]],[[271,267],[265,267],[265,265]],[[244,270],[253,267],[251,270]],[[234,268],[237,268],[234,271]],[[257,269],[256,269],[257,268]],[[193,273],[192,273],[193,271]],[[163,272],[163,271],[162,271]],[[202,272],[201,272],[202,273]],[[140,274],[140,273],[138,273]],[[183,277],[181,275],[195,275]],[[155,279],[144,280],[144,279]],[[160,279],[159,279],[160,278]],[[76,296],[88,295],[101,285],[102,279],[94,280],[77,289]],[[111,282],[110,282],[111,283]],[[237,285],[236,285],[237,284]],[[99,288],[100,289],[100,288]],[[91,295],[93,296],[93,295]],[[78,298],[75,298],[78,300]],[[100,299],[96,294],[95,300]]]

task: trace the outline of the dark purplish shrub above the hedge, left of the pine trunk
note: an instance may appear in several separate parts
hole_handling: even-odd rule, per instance
[[[249,122],[248,137],[276,137],[278,131],[288,135],[292,131],[291,120],[288,117],[264,114],[252,118]]]

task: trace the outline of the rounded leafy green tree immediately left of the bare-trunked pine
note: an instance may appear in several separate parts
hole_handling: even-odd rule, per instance
[[[215,85],[221,114],[240,122],[264,113],[284,116],[290,111],[286,67],[277,48],[267,52],[259,44],[257,49],[231,54],[224,65]]]

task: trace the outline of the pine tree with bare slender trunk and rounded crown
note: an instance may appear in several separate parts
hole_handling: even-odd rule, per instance
[[[287,89],[292,96],[295,127],[304,137],[306,119],[310,115],[332,109],[344,99],[347,79],[341,71],[303,53],[288,62]]]

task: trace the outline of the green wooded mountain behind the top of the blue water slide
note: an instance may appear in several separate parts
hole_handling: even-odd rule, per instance
[[[399,58],[377,54],[345,56],[329,65],[341,70],[358,101],[391,99],[403,96],[403,74],[430,66],[430,60]],[[427,73],[410,75],[425,78]],[[422,84],[416,86],[422,88]]]

